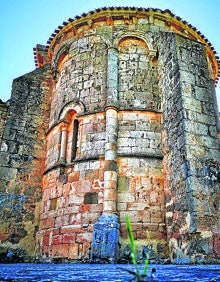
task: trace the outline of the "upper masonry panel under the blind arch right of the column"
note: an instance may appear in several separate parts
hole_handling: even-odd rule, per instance
[[[150,62],[146,43],[126,38],[118,50],[120,108],[160,110],[157,68]]]

